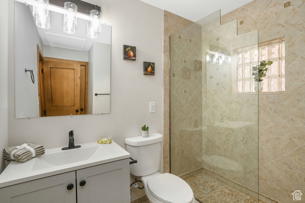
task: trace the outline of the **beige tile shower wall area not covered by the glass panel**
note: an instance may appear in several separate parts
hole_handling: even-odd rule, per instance
[[[237,18],[238,34],[258,29],[259,42],[285,36],[286,92],[259,95],[259,191],[292,203],[294,191],[305,191],[305,1],[286,2],[254,0],[221,23]]]

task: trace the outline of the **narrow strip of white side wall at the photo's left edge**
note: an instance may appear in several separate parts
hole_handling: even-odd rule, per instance
[[[8,0],[1,2],[0,9],[0,156],[8,147]],[[0,161],[0,173],[4,170],[4,160]]]

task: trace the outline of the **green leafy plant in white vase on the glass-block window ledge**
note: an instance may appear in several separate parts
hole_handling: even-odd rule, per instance
[[[264,82],[262,82],[264,79],[262,77],[265,77],[267,74],[268,68],[267,65],[271,65],[272,61],[260,61],[260,65],[253,66],[252,68],[252,75],[254,75],[254,90],[255,92],[261,92],[263,91],[263,85]]]

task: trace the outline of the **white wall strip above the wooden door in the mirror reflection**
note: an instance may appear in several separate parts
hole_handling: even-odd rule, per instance
[[[65,49],[43,45],[43,56],[49,58],[60,58],[72,61],[88,62],[88,51]]]

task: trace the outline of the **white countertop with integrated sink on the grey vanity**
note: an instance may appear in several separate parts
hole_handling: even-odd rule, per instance
[[[12,161],[0,174],[0,188],[130,157],[113,141],[80,145],[80,148],[68,150],[46,149],[45,154],[25,163]]]

